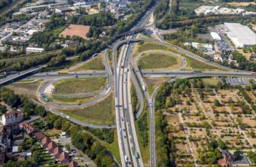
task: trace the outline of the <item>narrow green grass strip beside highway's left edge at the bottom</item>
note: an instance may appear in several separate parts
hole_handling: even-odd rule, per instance
[[[118,147],[118,139],[117,139],[117,130],[114,131],[113,143],[102,142],[102,144],[104,145],[104,147],[107,147],[107,150],[110,150],[113,156],[117,159],[117,162],[121,164],[119,147]]]

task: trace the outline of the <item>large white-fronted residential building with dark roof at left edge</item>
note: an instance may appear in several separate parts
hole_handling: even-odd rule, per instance
[[[2,115],[2,124],[7,125],[7,124],[14,124],[15,122],[20,122],[24,118],[24,113],[23,112],[7,112],[4,115]]]

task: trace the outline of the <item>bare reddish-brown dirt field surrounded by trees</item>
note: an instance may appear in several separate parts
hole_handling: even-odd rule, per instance
[[[87,39],[86,34],[89,32],[90,26],[74,25],[71,24],[69,27],[60,33],[64,38],[66,36],[80,36],[83,39]]]

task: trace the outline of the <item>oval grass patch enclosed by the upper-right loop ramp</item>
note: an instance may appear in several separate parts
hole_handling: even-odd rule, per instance
[[[150,53],[142,55],[138,61],[138,66],[141,69],[177,68],[180,65],[181,61],[178,61],[178,58],[175,58],[173,55],[162,53]]]

